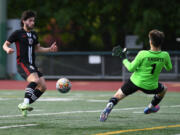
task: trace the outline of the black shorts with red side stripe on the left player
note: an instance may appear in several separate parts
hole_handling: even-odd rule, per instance
[[[39,77],[42,77],[43,74],[38,70],[38,68],[35,65],[22,63],[20,62],[18,64],[18,73],[26,80],[27,77],[31,74],[36,72]]]

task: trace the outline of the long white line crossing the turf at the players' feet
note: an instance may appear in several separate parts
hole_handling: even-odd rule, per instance
[[[176,105],[180,107],[180,105]],[[169,108],[175,107],[172,106],[161,106],[161,108]],[[113,109],[112,111],[128,111],[128,110],[139,110],[144,109],[144,107],[133,107],[133,108],[121,108],[121,109]],[[40,114],[29,114],[28,116],[50,116],[50,115],[61,115],[61,114],[76,114],[76,113],[96,113],[101,112],[102,110],[89,110],[89,111],[69,111],[69,112],[57,112],[57,113],[40,113]],[[2,115],[0,118],[14,118],[14,117],[22,117],[22,115]]]

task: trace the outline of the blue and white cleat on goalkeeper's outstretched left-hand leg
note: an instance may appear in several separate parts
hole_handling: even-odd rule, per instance
[[[110,114],[111,110],[113,109],[113,103],[108,103],[106,108],[101,112],[100,121],[105,122]]]

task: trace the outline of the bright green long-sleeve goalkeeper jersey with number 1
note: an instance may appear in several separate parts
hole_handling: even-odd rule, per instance
[[[130,80],[138,87],[153,90],[158,87],[159,74],[163,67],[169,71],[172,63],[166,51],[140,51],[132,62],[127,59],[123,64],[128,71],[133,72]]]

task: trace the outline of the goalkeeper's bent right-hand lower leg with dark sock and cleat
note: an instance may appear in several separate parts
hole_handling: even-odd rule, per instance
[[[157,94],[154,95],[149,106],[144,109],[145,114],[155,113],[155,112],[159,111],[160,107],[158,104],[164,98],[164,96],[167,92],[167,87],[159,83],[159,87],[158,87],[157,91],[160,91],[160,92],[158,92]]]

